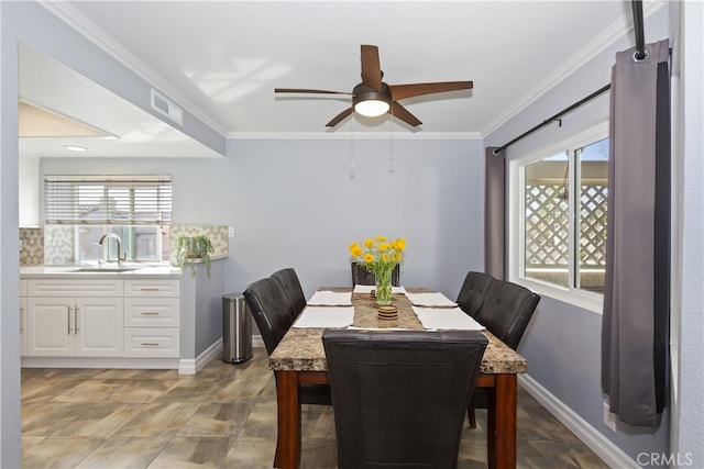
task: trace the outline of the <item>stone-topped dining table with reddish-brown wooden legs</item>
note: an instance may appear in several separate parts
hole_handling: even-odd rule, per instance
[[[344,303],[338,306],[348,306],[340,308],[348,313],[350,305],[353,308],[352,319],[348,321],[352,324],[333,322],[334,326],[367,330],[424,330],[409,297],[413,297],[414,293],[431,292],[432,290],[400,287],[396,291],[399,292],[393,295],[393,305],[398,309],[398,317],[395,320],[380,319],[378,306],[367,290],[362,292],[356,287],[354,290],[351,288],[320,288],[316,293],[329,293],[329,298],[344,292],[350,293],[349,305]],[[340,298],[344,298],[344,295]],[[309,300],[307,309],[311,306]],[[330,309],[328,313],[331,313],[332,310]],[[298,321],[302,321],[305,313],[304,310]],[[328,383],[327,361],[322,345],[324,327],[311,325],[312,327],[294,324],[270,356],[270,368],[276,377],[278,416],[278,439],[274,464],[279,469],[300,467],[301,404],[298,399],[299,384]],[[486,460],[492,469],[515,468],[517,375],[526,372],[527,360],[488,331],[483,330],[482,333],[486,335],[488,345],[482,358],[475,387],[484,388],[487,393]]]

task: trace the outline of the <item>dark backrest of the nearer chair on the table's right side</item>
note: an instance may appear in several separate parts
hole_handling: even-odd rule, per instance
[[[539,301],[527,288],[496,279],[475,319],[515,350]]]

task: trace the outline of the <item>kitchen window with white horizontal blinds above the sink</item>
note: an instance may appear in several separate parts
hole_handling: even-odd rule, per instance
[[[75,226],[77,263],[117,258],[116,243],[98,245],[106,233],[120,236],[128,260],[167,260],[170,177],[47,176],[44,220]]]

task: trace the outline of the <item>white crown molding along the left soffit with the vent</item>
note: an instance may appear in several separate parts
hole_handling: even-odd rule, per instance
[[[130,51],[124,48],[120,43],[112,38],[112,36],[98,27],[92,21],[81,14],[78,10],[72,7],[67,0],[47,0],[40,1],[38,3],[61,21],[66,23],[68,26],[73,27],[79,34],[88,38],[88,41],[90,41],[102,51],[108,53],[110,56],[116,58],[119,63],[128,67],[131,71],[136,74],[152,87],[168,96],[170,99],[177,102],[178,105],[183,107],[190,114],[193,114],[196,119],[210,126],[220,135],[227,135],[228,130],[224,129],[219,122],[212,120],[206,112],[204,112],[193,101],[183,96],[162,76],[160,76],[142,60],[140,60]]]

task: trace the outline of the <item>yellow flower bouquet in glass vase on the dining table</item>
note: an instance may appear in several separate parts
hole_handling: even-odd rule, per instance
[[[404,260],[406,239],[388,241],[384,236],[350,244],[350,255],[376,276],[376,304],[392,303],[392,271]]]

